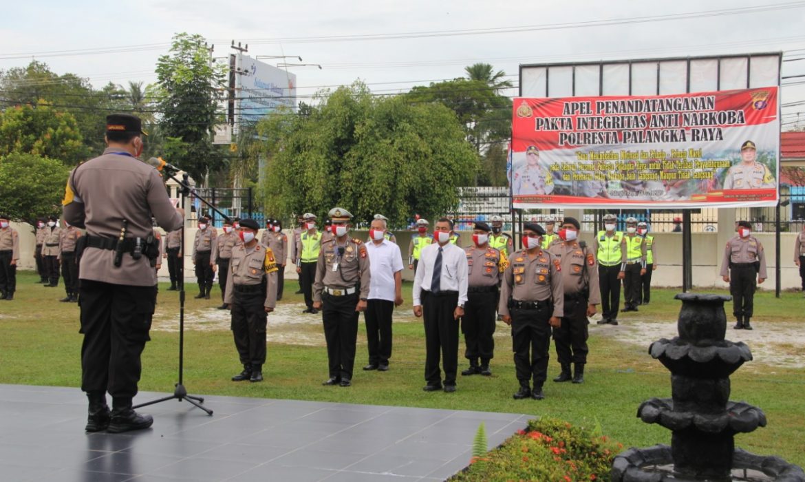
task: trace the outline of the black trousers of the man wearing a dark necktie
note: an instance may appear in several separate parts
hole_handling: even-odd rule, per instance
[[[444,364],[444,384],[456,384],[458,371],[458,320],[453,313],[458,306],[457,292],[433,294],[422,292],[425,318],[425,381],[429,385],[441,382],[439,358]]]

